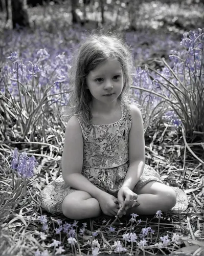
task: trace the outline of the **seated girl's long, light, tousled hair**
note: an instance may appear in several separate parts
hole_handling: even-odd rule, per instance
[[[109,59],[117,58],[121,63],[124,75],[124,87],[119,100],[132,103],[128,94],[129,86],[132,84],[133,61],[130,48],[116,34],[92,34],[81,42],[73,58],[70,70],[70,94],[66,106],[65,116],[69,120],[74,114],[81,113],[86,123],[90,124],[92,113],[89,102],[92,95],[86,89],[86,76],[96,66]]]

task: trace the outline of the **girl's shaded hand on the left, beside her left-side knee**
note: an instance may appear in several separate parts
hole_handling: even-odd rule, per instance
[[[116,216],[119,210],[118,199],[108,193],[103,193],[97,198],[103,214]]]

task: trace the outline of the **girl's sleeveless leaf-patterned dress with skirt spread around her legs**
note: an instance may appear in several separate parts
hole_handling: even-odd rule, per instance
[[[101,125],[86,124],[82,114],[75,114],[83,136],[81,174],[95,186],[116,198],[129,167],[128,138],[132,123],[130,106],[121,102],[121,110],[122,116],[119,121]],[[156,170],[145,164],[144,172],[133,188],[134,193],[138,194],[150,181],[163,183]],[[188,200],[184,191],[172,188],[176,191],[177,203],[171,210],[186,210]],[[52,214],[62,214],[61,206],[64,198],[74,191],[77,189],[67,185],[62,176],[59,176],[41,191],[41,207]]]

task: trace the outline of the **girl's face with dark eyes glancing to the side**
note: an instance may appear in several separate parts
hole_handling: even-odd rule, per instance
[[[124,86],[120,62],[116,58],[109,58],[97,65],[94,70],[88,73],[86,85],[93,100],[106,104],[117,100]]]

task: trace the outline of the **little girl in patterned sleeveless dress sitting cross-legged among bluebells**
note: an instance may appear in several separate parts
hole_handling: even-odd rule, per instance
[[[70,75],[62,176],[42,190],[42,208],[76,220],[187,208],[182,190],[145,164],[142,115],[127,93],[132,66],[116,35],[82,42]]]

